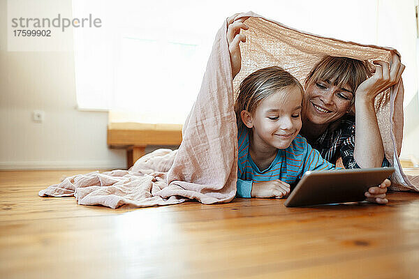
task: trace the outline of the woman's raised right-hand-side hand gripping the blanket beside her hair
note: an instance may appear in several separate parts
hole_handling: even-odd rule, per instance
[[[362,82],[355,93],[355,101],[363,100],[374,105],[374,99],[378,95],[388,89],[390,86],[399,82],[404,71],[404,65],[400,62],[396,52],[392,53],[391,67],[385,61],[374,61],[375,73],[372,77]],[[355,104],[356,110],[356,104]]]

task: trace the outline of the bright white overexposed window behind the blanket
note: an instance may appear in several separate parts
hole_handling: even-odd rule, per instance
[[[73,29],[78,106],[110,110],[110,121],[183,123],[216,31],[246,10],[321,36],[395,47],[407,104],[418,90],[414,9],[413,1],[382,0],[73,0],[74,17],[103,22]]]

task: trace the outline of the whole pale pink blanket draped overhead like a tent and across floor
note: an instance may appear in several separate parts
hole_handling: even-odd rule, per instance
[[[197,199],[204,204],[230,202],[237,181],[237,126],[234,92],[250,73],[281,66],[302,84],[309,70],[324,55],[390,62],[395,50],[344,42],[304,33],[255,13],[244,31],[242,69],[233,77],[227,44],[227,22],[216,34],[196,102],[182,130],[178,150],[159,149],[140,158],[129,170],[92,172],[67,177],[39,192],[40,196],[75,196],[79,204],[102,204],[113,209],[123,204],[154,206]],[[385,156],[395,167],[393,190],[419,190],[419,177],[406,176],[399,163],[403,129],[403,84],[377,96],[376,114]]]

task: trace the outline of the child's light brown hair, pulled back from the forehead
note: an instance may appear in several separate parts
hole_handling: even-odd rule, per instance
[[[239,129],[247,128],[240,116],[243,110],[254,114],[260,102],[280,90],[297,86],[304,96],[304,89],[298,80],[283,68],[272,66],[256,70],[247,76],[240,84],[239,93],[235,99],[234,111]]]

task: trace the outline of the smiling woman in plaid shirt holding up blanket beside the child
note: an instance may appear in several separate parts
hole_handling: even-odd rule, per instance
[[[248,29],[242,17],[228,18],[228,48],[233,78],[240,72],[240,42],[246,37],[241,29]],[[304,112],[301,134],[329,160],[343,163],[346,168],[380,167],[388,165],[374,110],[374,98],[399,82],[404,65],[397,53],[392,55],[392,66],[385,61],[374,61],[371,73],[367,63],[346,57],[326,56],[310,71],[304,84]],[[356,98],[355,98],[356,95]],[[355,107],[355,117],[351,115]],[[358,119],[356,121],[355,119]],[[388,203],[385,198],[390,181],[381,187],[371,187],[365,193],[369,202]]]

